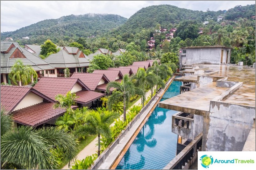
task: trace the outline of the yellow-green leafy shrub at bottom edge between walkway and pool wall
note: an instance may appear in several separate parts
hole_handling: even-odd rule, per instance
[[[97,157],[97,154],[93,154],[92,156],[86,156],[82,161],[75,160],[75,165],[72,165],[71,169],[88,169]]]

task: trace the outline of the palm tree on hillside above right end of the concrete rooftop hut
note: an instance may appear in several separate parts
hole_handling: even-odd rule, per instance
[[[231,45],[233,47],[242,47],[243,44],[246,44],[248,42],[247,36],[248,36],[247,31],[234,30],[231,33]]]

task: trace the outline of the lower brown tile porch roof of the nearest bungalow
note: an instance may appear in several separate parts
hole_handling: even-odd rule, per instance
[[[13,111],[12,118],[15,122],[36,127],[55,117],[62,115],[66,109],[53,108],[54,103],[42,102],[23,109]],[[72,106],[75,108],[77,106]]]

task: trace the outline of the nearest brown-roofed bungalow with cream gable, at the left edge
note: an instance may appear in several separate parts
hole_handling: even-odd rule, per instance
[[[53,125],[56,118],[66,112],[63,108],[54,109],[54,103],[52,98],[32,87],[1,85],[1,109],[12,115],[16,127]]]

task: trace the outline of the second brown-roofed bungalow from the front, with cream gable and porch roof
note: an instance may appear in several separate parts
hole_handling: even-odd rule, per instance
[[[42,77],[34,86],[34,89],[56,101],[58,94],[66,95],[68,91],[76,94],[75,105],[87,106],[96,109],[99,106],[98,99],[105,96],[104,93],[90,91],[80,79],[63,77]]]

